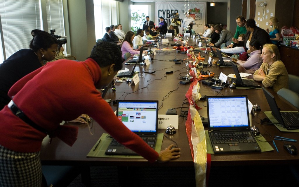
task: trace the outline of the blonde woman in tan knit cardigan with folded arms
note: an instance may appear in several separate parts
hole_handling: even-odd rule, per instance
[[[289,75],[280,60],[280,53],[275,44],[265,44],[262,49],[263,64],[253,74],[255,81],[261,81],[266,88],[272,87],[275,92],[289,88]]]

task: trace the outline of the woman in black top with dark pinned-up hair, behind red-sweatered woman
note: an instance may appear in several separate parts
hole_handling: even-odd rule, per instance
[[[34,29],[31,35],[30,49],[21,49],[0,64],[0,110],[10,102],[7,93],[13,84],[59,53],[59,41],[48,32]]]

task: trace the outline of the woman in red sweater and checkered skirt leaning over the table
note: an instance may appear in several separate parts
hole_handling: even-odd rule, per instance
[[[41,186],[42,140],[54,134],[68,145],[74,144],[78,127],[60,126],[60,122],[83,113],[149,162],[179,158],[176,151],[180,149],[171,149],[173,145],[160,153],[149,147],[118,119],[97,91],[108,85],[122,67],[119,47],[101,42],[85,61],[47,63],[14,84],[8,93],[13,100],[0,111],[0,186]]]

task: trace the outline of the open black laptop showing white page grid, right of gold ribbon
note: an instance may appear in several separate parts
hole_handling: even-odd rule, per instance
[[[261,151],[250,130],[247,96],[207,96],[207,109],[215,154]]]

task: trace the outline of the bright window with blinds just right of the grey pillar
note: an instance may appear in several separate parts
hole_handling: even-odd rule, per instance
[[[106,33],[105,28],[117,25],[116,1],[94,0],[95,38],[101,39]]]

